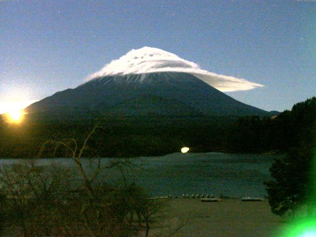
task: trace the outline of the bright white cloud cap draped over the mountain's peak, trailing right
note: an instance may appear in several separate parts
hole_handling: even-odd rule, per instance
[[[158,72],[178,72],[192,74],[216,89],[227,92],[250,90],[263,86],[246,79],[219,75],[200,69],[188,60],[159,48],[143,47],[132,49],[124,56],[106,64],[100,71],[90,75],[88,80],[104,76],[123,76],[127,74],[147,74]]]

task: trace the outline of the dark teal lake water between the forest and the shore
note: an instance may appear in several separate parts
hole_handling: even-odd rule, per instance
[[[216,197],[265,197],[264,181],[270,180],[269,168],[275,155],[249,155],[225,153],[174,153],[162,157],[129,159],[136,166],[123,168],[128,181],[135,180],[153,196],[182,196],[182,194],[209,194]],[[96,164],[82,158],[84,168],[91,173]],[[102,165],[113,158],[102,158]],[[19,162],[20,159],[0,159],[0,166]],[[49,162],[62,166],[75,165],[72,159],[40,159],[40,164]],[[118,169],[105,169],[100,180],[119,185],[122,176]]]

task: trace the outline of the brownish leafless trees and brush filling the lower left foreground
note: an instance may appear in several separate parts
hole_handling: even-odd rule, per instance
[[[86,170],[81,157],[98,128],[97,124],[81,146],[75,139],[65,139],[47,141],[40,150],[39,158],[47,148],[53,156],[63,149],[74,161],[76,173],[60,165],[39,165],[38,159],[1,168],[0,208],[4,206],[5,214],[1,224],[11,234],[16,230],[16,236],[24,237],[148,237],[154,223],[163,219],[164,202],[149,198],[144,189],[128,182],[126,169],[133,166],[128,159],[113,159],[105,165],[100,158],[89,159],[94,169]],[[121,172],[124,182],[119,187],[99,182],[100,172],[111,168]],[[82,182],[76,187],[73,180],[78,173]]]

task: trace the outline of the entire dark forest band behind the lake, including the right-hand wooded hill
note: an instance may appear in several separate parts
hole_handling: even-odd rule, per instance
[[[74,138],[82,143],[93,128],[83,157],[160,156],[179,152],[267,153],[286,152],[288,148],[313,139],[316,134],[316,97],[297,103],[291,111],[274,117],[200,116],[126,117],[81,120],[39,120],[26,116],[21,124],[1,120],[0,158],[37,157],[47,140]],[[53,148],[42,156],[53,157]],[[67,157],[60,150],[56,157]]]

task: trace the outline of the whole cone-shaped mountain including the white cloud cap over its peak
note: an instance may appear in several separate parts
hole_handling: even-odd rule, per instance
[[[202,70],[167,51],[143,47],[105,65],[74,89],[46,97],[26,113],[54,118],[99,116],[247,116],[269,112],[223,92],[263,85]]]

